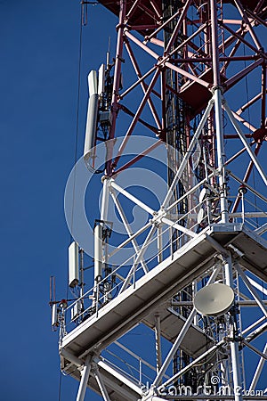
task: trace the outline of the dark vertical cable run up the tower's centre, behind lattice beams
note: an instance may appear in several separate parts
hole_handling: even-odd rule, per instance
[[[174,15],[175,10],[180,6],[177,1],[163,1],[163,22],[166,22]],[[172,33],[174,32],[175,24],[177,23],[177,18],[172,20],[166,25],[164,29],[164,44],[165,47],[168,45]],[[175,52],[175,49],[182,44],[182,38],[185,34],[184,28],[186,24],[182,24],[181,29],[177,37],[174,40],[174,44],[171,47],[171,51],[174,51],[173,57],[183,57],[183,49],[180,52]],[[179,96],[178,92],[182,87],[182,76],[176,71],[171,69],[166,69],[166,144],[167,144],[167,161],[168,161],[168,186],[170,187],[174,181],[174,172],[177,166],[182,162],[182,158],[186,155],[188,143],[189,143],[189,133],[190,133],[190,119],[188,118],[189,110],[187,109],[186,102],[184,102]],[[178,91],[177,91],[178,88]],[[179,181],[174,188],[173,197],[170,204],[177,201],[185,194],[185,188],[189,185],[188,178],[185,175],[182,177],[182,181]],[[179,214],[181,216],[186,216],[188,213],[188,200],[184,200],[177,204],[175,209],[172,209],[172,213]],[[186,219],[181,220],[183,226],[186,225]],[[183,243],[179,238],[181,238],[181,232],[176,229],[172,229],[171,235],[171,246],[172,252],[178,250]],[[183,241],[183,240],[182,240]],[[190,284],[183,291],[176,295],[175,299],[181,301],[191,300],[192,285]],[[180,311],[183,317],[188,317],[188,310],[185,307],[177,307],[177,311]],[[182,349],[179,349],[174,356],[174,373],[178,372],[179,368],[182,369],[187,364],[190,363],[190,356],[187,355]],[[183,385],[191,385],[188,374],[182,377],[181,383]]]

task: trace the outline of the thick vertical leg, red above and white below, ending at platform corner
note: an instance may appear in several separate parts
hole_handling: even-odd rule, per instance
[[[217,4],[215,0],[210,1],[211,7],[211,29],[212,29],[212,59],[214,73],[214,109],[216,124],[216,142],[217,142],[217,159],[219,169],[219,185],[221,198],[221,216],[222,223],[228,223],[228,201],[227,188],[225,179],[225,151],[223,143],[223,107],[222,107],[222,87],[220,86],[220,63],[219,63],[219,47],[218,47],[218,21],[217,21]]]

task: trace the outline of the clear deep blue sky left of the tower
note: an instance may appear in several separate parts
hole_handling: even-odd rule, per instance
[[[116,23],[101,6],[89,6],[88,12],[78,156],[84,140],[86,74],[104,61]],[[61,298],[68,266],[63,195],[74,161],[79,18],[78,0],[0,0],[0,388],[5,401],[58,399],[59,357],[57,334],[50,326],[49,276],[56,276]],[[114,45],[111,41],[111,48]],[[61,400],[73,400],[76,393],[77,383],[63,378]],[[91,393],[90,399],[99,398]]]

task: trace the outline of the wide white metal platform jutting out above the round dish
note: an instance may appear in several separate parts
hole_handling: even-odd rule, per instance
[[[112,299],[99,310],[98,315],[92,315],[70,331],[63,338],[60,348],[83,358],[90,352],[101,352],[136,323],[144,321],[151,327],[150,314],[160,310],[164,302],[213,266],[217,254],[213,240],[224,248],[231,244],[243,252],[244,256],[239,256],[239,264],[263,280],[267,279],[267,241],[241,225],[213,225],[145,274],[136,282],[135,287],[129,287]],[[166,324],[163,324],[162,335],[168,340],[174,340],[180,330],[180,323],[177,319],[175,331],[170,327],[173,320],[167,323],[167,319],[170,319],[169,312],[167,314],[163,315]],[[203,334],[199,332],[199,336],[203,337]],[[199,342],[199,349],[190,349],[191,346],[185,344],[184,348],[190,351],[190,355],[198,355],[202,348],[201,342],[204,343],[204,339]]]

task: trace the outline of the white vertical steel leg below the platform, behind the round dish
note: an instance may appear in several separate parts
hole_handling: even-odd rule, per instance
[[[229,256],[224,265],[224,273],[225,273],[225,283],[233,288],[233,278],[232,278],[232,266],[231,266],[231,256]],[[239,364],[239,344],[238,341],[235,340],[235,327],[231,325],[231,365],[232,365],[232,379],[234,386],[234,397],[235,401],[242,401],[242,381],[240,374],[240,364]]]

